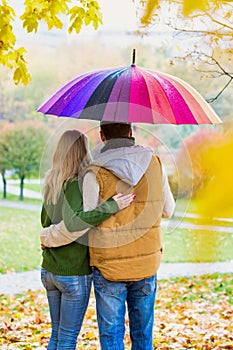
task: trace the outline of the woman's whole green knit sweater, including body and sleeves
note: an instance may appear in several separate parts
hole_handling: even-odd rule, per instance
[[[117,203],[110,198],[94,210],[83,212],[82,193],[77,178],[67,182],[56,205],[43,204],[41,224],[48,227],[64,220],[66,228],[71,231],[81,231],[97,226],[111,215],[118,212]],[[87,237],[57,248],[46,248],[43,251],[42,267],[62,276],[86,275],[91,273],[89,266],[89,250]]]

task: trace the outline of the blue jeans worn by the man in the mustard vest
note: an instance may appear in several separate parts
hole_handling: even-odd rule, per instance
[[[112,282],[94,268],[93,281],[101,349],[124,349],[127,304],[132,350],[152,350],[157,276],[136,282]]]

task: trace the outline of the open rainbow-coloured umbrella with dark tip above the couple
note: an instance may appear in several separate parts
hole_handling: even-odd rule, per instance
[[[217,124],[220,118],[185,81],[132,65],[80,75],[38,109],[77,119],[150,124]]]

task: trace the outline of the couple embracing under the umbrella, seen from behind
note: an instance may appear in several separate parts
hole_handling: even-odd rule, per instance
[[[102,350],[123,350],[126,305],[133,350],[153,349],[160,221],[174,199],[160,159],[135,145],[130,124],[100,124],[92,160],[85,135],[60,138],[44,185],[42,282],[49,350],[75,349],[92,281]]]

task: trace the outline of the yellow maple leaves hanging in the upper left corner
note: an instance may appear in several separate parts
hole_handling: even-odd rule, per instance
[[[24,13],[21,15],[23,28],[28,33],[36,33],[39,23],[45,21],[48,30],[63,29],[68,17],[68,32],[79,33],[85,25],[93,25],[95,29],[102,23],[100,7],[97,1],[80,0],[80,6],[72,6],[71,0],[26,0]],[[65,18],[64,18],[65,16]],[[14,8],[2,0],[0,5],[0,64],[13,70],[15,84],[27,85],[31,81],[25,60],[26,50],[23,47],[16,48],[16,37],[13,32],[13,22],[16,14]]]

